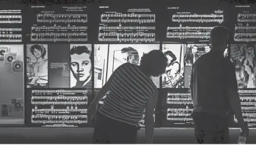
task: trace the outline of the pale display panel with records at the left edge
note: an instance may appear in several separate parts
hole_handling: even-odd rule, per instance
[[[24,124],[24,110],[14,110],[12,104],[24,98],[24,45],[0,45],[0,51],[5,56],[0,60],[0,124]]]

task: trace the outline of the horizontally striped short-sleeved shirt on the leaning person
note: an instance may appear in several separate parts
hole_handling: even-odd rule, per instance
[[[148,98],[157,91],[137,65],[125,63],[114,71],[109,95],[99,112],[113,120],[139,126]]]

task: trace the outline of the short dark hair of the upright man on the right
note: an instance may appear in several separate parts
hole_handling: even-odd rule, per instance
[[[229,32],[226,27],[217,26],[210,31],[210,41],[215,47],[226,44],[228,42],[228,38]]]

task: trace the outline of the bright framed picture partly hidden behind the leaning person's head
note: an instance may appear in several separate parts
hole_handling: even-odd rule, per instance
[[[143,53],[160,50],[159,44],[111,44],[108,52],[107,80],[120,65],[129,62],[139,65]],[[153,83],[159,88],[159,77],[152,77]]]

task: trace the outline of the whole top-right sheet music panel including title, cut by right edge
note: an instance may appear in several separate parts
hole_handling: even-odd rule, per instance
[[[255,6],[232,5],[232,42],[256,42]]]

